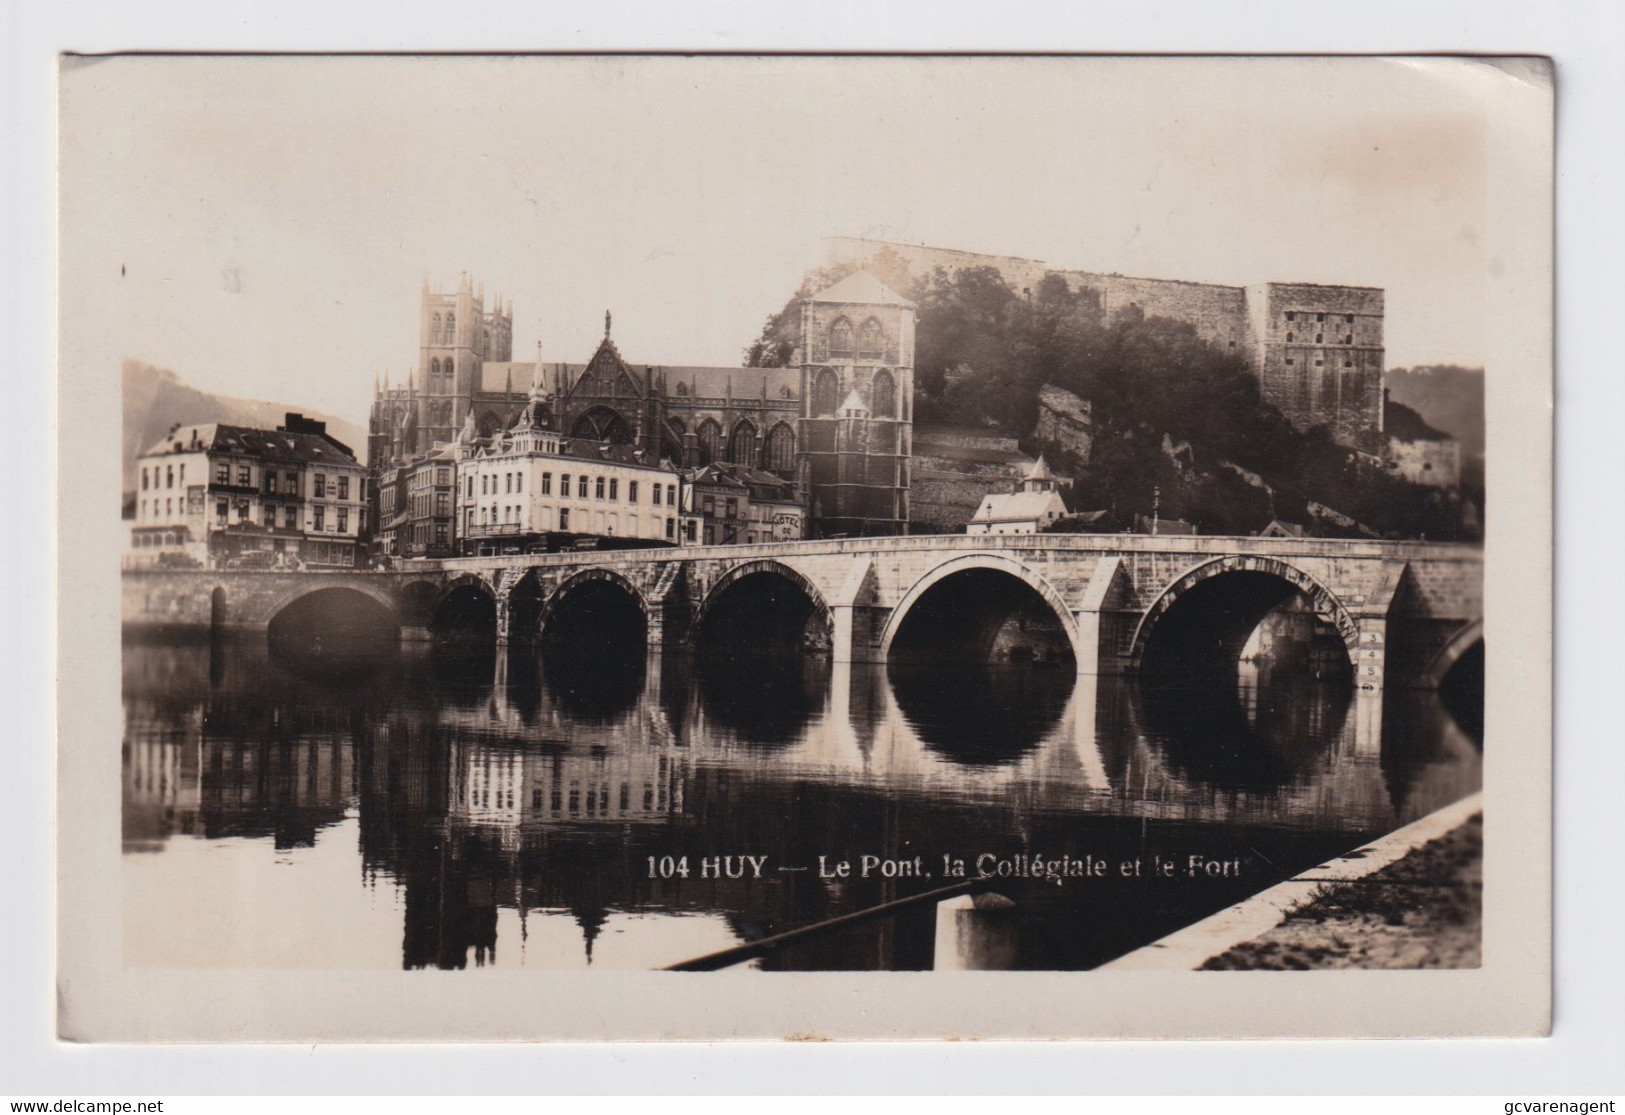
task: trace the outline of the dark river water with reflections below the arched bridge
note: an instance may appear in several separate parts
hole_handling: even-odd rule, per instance
[[[128,642],[124,702],[133,965],[650,969],[980,870],[1016,902],[1004,964],[1087,969],[1471,793],[1482,761],[1435,694],[1290,671],[1150,692],[260,637]],[[939,917],[752,965],[949,967]]]

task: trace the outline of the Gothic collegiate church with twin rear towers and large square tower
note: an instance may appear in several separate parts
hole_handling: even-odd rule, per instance
[[[479,437],[509,429],[531,388],[556,400],[559,432],[630,445],[644,460],[748,465],[791,481],[812,538],[902,535],[908,525],[913,306],[868,271],[804,297],[786,367],[629,361],[604,336],[583,364],[514,361],[514,307],[488,309],[465,275],[422,288],[418,367],[375,388],[367,460],[375,475],[450,445],[470,416]]]

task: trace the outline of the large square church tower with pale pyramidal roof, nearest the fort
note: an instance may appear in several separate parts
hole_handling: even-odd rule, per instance
[[[913,302],[868,271],[801,301],[809,536],[908,533],[913,333]]]

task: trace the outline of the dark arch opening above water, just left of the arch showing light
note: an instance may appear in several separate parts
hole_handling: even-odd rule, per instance
[[[962,569],[913,603],[889,660],[1060,666],[1074,657],[1061,618],[1037,588],[1001,569]]]

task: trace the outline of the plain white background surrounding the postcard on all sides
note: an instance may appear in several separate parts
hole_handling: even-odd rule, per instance
[[[0,0],[8,138],[0,197],[0,1094],[569,1091],[1079,1091],[1597,1094],[1625,1091],[1618,718],[1625,574],[1618,345],[1625,7],[1607,0],[1251,3],[624,3],[458,11],[367,3]],[[1245,15],[1243,15],[1245,13]],[[1542,1042],[70,1047],[52,1039],[50,610],[54,55],[58,50],[1112,50],[1550,54],[1558,99],[1555,1035]],[[73,544],[62,540],[60,544]],[[1531,618],[1540,623],[1540,618]],[[1498,1107],[1495,1108],[1498,1110]]]

